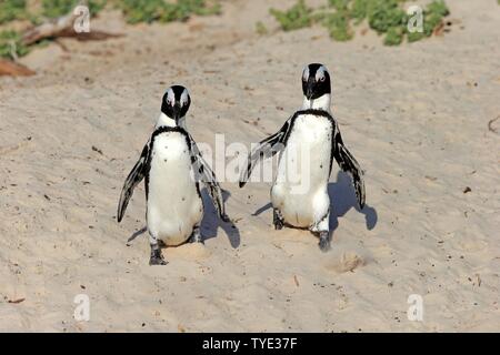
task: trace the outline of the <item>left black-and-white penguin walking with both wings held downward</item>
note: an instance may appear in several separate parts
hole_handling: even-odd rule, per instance
[[[159,242],[167,246],[177,246],[188,240],[203,242],[200,223],[204,209],[200,182],[207,187],[220,219],[229,222],[216,174],[186,128],[190,105],[191,97],[184,87],[173,85],[167,90],[154,131],[127,176],[118,203],[120,223],[133,189],[144,180],[150,265],[167,264]]]

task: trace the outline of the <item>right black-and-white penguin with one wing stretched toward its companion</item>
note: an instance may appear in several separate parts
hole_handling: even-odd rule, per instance
[[[271,187],[273,225],[308,229],[319,235],[319,247],[330,250],[330,197],[328,182],[333,159],[351,175],[359,206],[364,206],[363,172],[340,135],[330,111],[330,73],[320,63],[302,72],[302,108],[283,126],[261,141],[248,155],[240,175],[243,187],[256,164],[279,153],[278,170]],[[290,166],[299,166],[293,169]]]

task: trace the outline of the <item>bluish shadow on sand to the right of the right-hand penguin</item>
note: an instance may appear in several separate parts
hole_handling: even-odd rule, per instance
[[[377,225],[377,210],[364,204],[361,210],[356,197],[351,178],[343,171],[337,174],[337,182],[328,184],[328,194],[330,195],[330,231],[333,233],[339,226],[339,217],[342,217],[351,209],[364,214],[364,222],[369,231]]]

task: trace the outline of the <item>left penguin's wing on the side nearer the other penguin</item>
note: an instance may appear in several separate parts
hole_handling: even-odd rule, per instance
[[[193,168],[194,172],[197,173],[196,181],[201,180],[201,182],[207,187],[207,191],[210,195],[210,199],[212,200],[217,213],[219,214],[219,217],[224,222],[229,222],[230,221],[229,216],[226,214],[222,189],[220,187],[219,182],[217,181],[217,176],[210,169],[210,165],[206,162],[206,160],[201,155],[201,152],[198,149],[198,145],[194,142],[194,140],[191,136],[189,138],[191,140],[191,151],[193,154]]]

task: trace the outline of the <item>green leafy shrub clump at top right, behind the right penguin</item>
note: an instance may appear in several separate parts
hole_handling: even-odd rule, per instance
[[[499,0],[500,1],[500,0]],[[353,38],[352,28],[364,20],[370,29],[383,36],[387,45],[399,45],[404,38],[409,42],[432,36],[442,18],[449,14],[443,0],[433,0],[423,10],[423,32],[409,32],[409,17],[402,7],[406,0],[328,0],[318,9],[309,8],[304,0],[286,11],[271,9],[283,31],[292,31],[319,23],[327,28],[330,37],[337,41]]]

